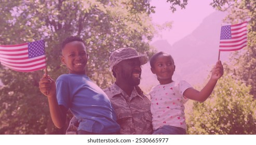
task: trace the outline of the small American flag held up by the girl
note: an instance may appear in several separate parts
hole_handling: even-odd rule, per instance
[[[247,24],[242,22],[221,27],[219,51],[236,51],[247,46]]]

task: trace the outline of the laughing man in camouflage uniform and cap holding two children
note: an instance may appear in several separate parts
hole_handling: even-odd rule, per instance
[[[111,53],[109,63],[116,81],[103,91],[110,98],[120,125],[120,134],[152,134],[150,100],[139,88],[141,65],[147,57],[133,48],[120,48]],[[76,120],[70,121],[66,134],[74,134]]]

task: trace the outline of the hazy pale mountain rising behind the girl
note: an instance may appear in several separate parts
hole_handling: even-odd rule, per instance
[[[176,65],[173,80],[186,80],[194,86],[205,82],[211,68],[218,60],[220,28],[224,17],[224,12],[211,13],[191,34],[172,46],[167,40],[158,40],[152,44],[157,51],[172,55]],[[222,63],[228,60],[229,54],[229,52],[221,52]],[[159,83],[152,74],[149,63],[142,66],[141,77],[140,86],[145,92]]]

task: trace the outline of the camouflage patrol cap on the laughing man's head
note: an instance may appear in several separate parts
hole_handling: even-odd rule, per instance
[[[139,55],[134,48],[119,48],[112,52],[110,55],[110,68],[112,70],[113,66],[115,66],[119,62],[123,60],[134,59],[137,57],[139,58],[141,65],[147,63],[147,57],[144,55]]]

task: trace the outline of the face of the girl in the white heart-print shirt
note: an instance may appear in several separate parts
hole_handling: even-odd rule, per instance
[[[172,82],[172,75],[175,71],[175,65],[171,55],[161,54],[156,57],[154,66],[151,67],[153,74],[156,74],[160,84]]]

